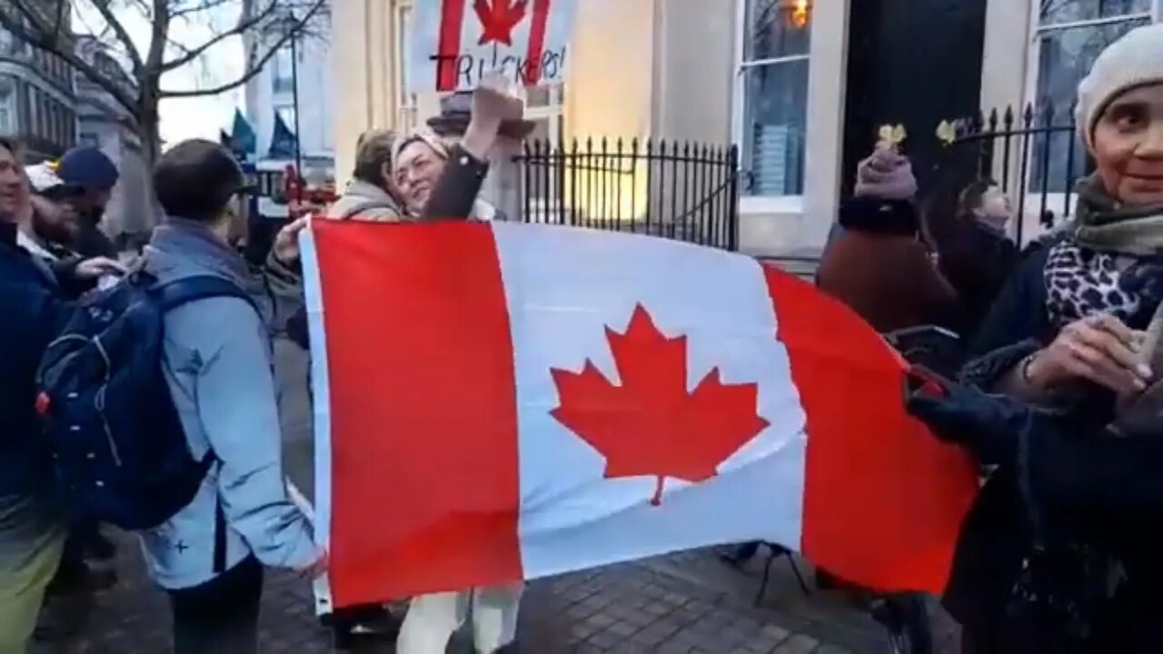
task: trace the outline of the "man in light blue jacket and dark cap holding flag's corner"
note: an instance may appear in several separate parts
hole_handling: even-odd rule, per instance
[[[317,571],[326,560],[284,483],[270,307],[230,247],[243,189],[235,158],[211,141],[178,143],[154,171],[165,218],[145,270],[163,284],[211,275],[256,296],[206,298],[165,317],[163,368],[186,439],[194,456],[213,450],[219,461],[188,506],[142,533],[150,575],[170,596],[176,654],[257,652],[263,569]]]

